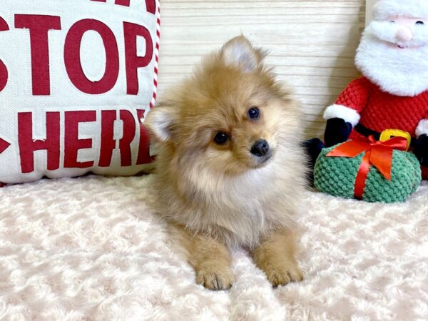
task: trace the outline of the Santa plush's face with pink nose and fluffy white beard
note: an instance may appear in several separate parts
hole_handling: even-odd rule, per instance
[[[382,90],[416,96],[428,89],[428,18],[390,16],[372,21],[356,56],[360,71]]]

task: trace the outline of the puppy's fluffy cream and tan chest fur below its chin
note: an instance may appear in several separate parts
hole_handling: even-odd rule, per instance
[[[278,152],[278,154],[280,154]],[[161,215],[171,223],[205,233],[235,247],[253,248],[260,238],[278,227],[295,228],[294,213],[299,199],[299,176],[290,170],[299,167],[301,158],[277,155],[265,168],[238,176],[212,173],[203,167],[189,168],[172,182],[167,171],[156,177]],[[294,179],[294,178],[297,178]]]

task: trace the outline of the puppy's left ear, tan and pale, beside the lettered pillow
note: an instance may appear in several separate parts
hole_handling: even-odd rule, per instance
[[[177,118],[176,108],[159,104],[147,115],[144,125],[159,141],[169,141]]]

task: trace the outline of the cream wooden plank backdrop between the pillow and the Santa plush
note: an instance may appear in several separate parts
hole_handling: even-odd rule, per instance
[[[267,63],[295,88],[307,137],[322,136],[322,111],[358,76],[355,49],[365,0],[161,0],[159,96],[200,57],[243,33],[270,50]]]

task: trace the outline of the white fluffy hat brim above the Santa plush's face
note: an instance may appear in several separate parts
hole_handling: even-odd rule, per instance
[[[428,0],[380,0],[373,6],[373,18],[385,20],[390,16],[428,17]]]

